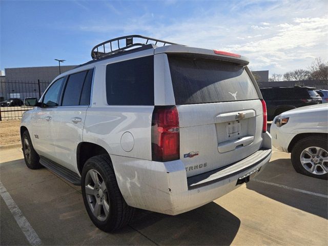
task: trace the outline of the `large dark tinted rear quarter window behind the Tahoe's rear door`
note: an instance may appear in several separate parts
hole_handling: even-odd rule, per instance
[[[106,93],[109,105],[154,105],[154,56],[107,65]]]

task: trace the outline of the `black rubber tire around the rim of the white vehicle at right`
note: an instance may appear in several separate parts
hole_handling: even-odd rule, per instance
[[[303,152],[303,150],[310,148],[310,147],[319,147],[323,150],[325,150],[326,152],[328,152],[328,146],[327,146],[327,137],[324,136],[318,136],[315,135],[313,137],[305,137],[301,140],[299,140],[298,142],[296,142],[295,146],[292,149],[292,155],[291,155],[291,159],[292,159],[292,163],[293,163],[293,167],[295,169],[296,172],[306,175],[306,176],[310,176],[310,177],[314,177],[314,178],[321,178],[321,179],[328,179],[328,173],[325,174],[314,174],[311,173],[310,171],[306,170],[301,163],[300,160],[300,155]],[[324,165],[324,167],[328,166],[328,162],[324,161],[321,162],[322,165]],[[311,165],[309,164],[309,167],[311,167]],[[322,168],[320,167],[319,170],[321,170]]]

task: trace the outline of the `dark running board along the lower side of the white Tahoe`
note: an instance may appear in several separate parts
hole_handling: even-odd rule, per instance
[[[81,185],[81,178],[73,171],[57,164],[56,162],[49,160],[44,156],[40,156],[40,164],[51,172],[59,175],[60,177],[65,178],[67,181],[71,182],[75,186]]]

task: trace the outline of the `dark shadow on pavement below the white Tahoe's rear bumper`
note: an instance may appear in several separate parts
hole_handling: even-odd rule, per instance
[[[176,216],[138,210],[130,227],[160,245],[228,245],[240,220],[215,202]]]

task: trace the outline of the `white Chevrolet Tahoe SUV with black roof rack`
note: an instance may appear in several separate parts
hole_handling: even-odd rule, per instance
[[[135,208],[190,211],[269,161],[265,103],[247,58],[139,35],[91,55],[27,101],[35,107],[20,132],[28,168],[80,185],[99,229],[125,226]]]

